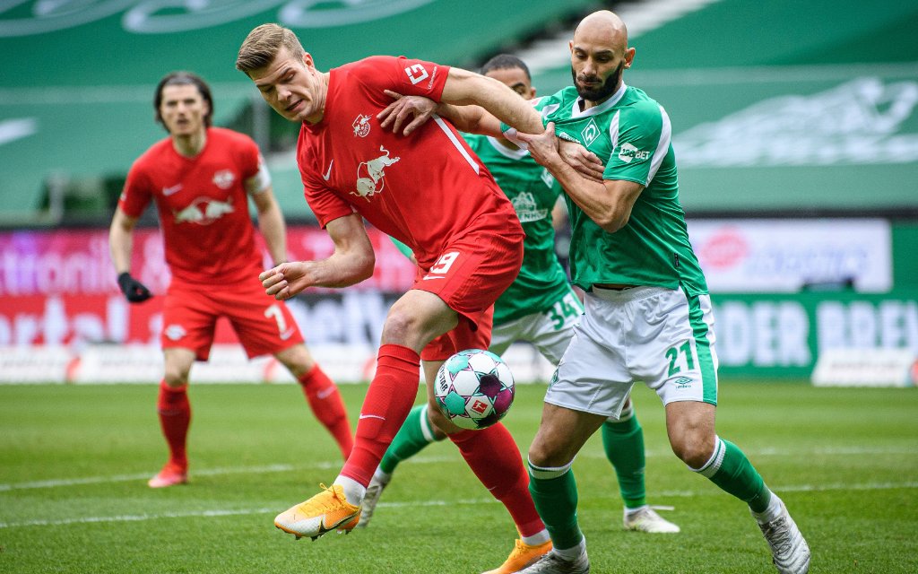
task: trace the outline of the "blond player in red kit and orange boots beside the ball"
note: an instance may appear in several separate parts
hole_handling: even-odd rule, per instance
[[[486,349],[494,301],[522,261],[519,219],[487,168],[440,118],[411,138],[380,128],[376,115],[392,101],[386,90],[477,104],[523,132],[541,133],[542,121],[504,84],[432,62],[375,56],[319,72],[297,36],[275,24],[250,32],[236,67],[277,113],[302,123],[297,163],[306,198],[335,245],[328,259],[264,272],[267,293],[284,300],[306,287],[346,287],[369,277],[375,256],[364,218],[409,245],[418,259],[414,285],[386,317],[351,456],[329,489],[274,519],[297,537],[347,532],[359,521],[366,486],[411,409],[421,361],[431,381],[456,351]],[[428,400],[432,405],[431,385]],[[547,552],[551,545],[509,431],[500,423],[467,431],[437,409],[431,413],[534,548],[523,565]]]

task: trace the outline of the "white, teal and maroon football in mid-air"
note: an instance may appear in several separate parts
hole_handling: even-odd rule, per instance
[[[482,349],[446,359],[435,385],[443,416],[464,429],[484,429],[504,418],[516,392],[509,366]]]

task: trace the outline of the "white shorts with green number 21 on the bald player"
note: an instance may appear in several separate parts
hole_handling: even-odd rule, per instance
[[[711,297],[680,289],[594,287],[545,402],[618,418],[636,381],[663,400],[717,404]]]

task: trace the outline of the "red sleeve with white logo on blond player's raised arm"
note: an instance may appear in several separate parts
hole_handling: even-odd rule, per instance
[[[367,84],[406,96],[429,97],[439,102],[450,67],[405,56],[374,56],[358,62],[356,73]]]

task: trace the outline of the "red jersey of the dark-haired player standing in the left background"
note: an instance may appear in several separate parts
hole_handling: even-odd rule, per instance
[[[259,189],[270,183],[255,142],[208,128],[204,150],[193,158],[176,152],[170,138],[153,144],[131,166],[118,206],[136,218],[151,198],[156,202],[174,278],[235,283],[263,271],[246,192],[256,176]]]

